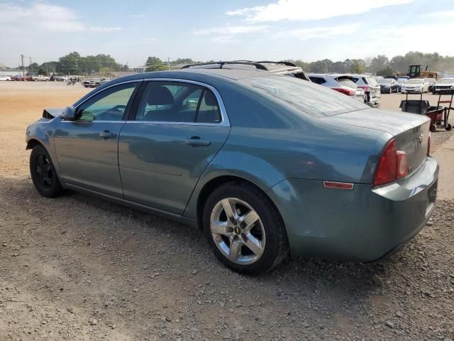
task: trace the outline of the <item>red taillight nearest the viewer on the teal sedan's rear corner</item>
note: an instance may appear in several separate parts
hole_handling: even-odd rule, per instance
[[[374,186],[386,185],[409,173],[409,163],[404,151],[398,151],[396,140],[391,139],[384,147],[377,170],[375,171]]]

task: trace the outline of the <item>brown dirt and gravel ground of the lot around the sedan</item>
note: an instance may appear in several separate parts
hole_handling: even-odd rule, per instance
[[[0,82],[1,341],[453,339],[453,201],[389,259],[289,258],[241,276],[189,227],[79,193],[38,195],[26,126],[88,91]],[[402,97],[382,95],[382,108],[399,114]],[[433,134],[433,150],[450,136]]]

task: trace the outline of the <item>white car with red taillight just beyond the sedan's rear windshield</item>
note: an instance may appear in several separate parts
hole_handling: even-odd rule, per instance
[[[365,102],[365,92],[353,82],[350,75],[325,75],[319,73],[310,73],[309,79],[323,87],[329,87],[332,90],[346,94],[360,102]]]

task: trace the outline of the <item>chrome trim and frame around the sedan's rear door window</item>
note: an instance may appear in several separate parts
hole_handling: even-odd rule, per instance
[[[180,78],[148,78],[148,79],[143,79],[143,87],[140,89],[140,96],[135,97],[135,101],[133,106],[131,106],[131,109],[135,109],[137,111],[138,108],[138,103],[135,105],[135,102],[140,102],[140,99],[143,95],[143,90],[145,89],[145,86],[148,84],[148,82],[178,82],[178,83],[188,83],[188,84],[193,84],[193,85],[199,85],[199,87],[205,87],[206,89],[211,90],[211,92],[214,93],[214,96],[216,97],[216,101],[218,102],[219,106],[219,111],[221,112],[221,122],[219,123],[204,123],[204,122],[175,122],[175,121],[135,121],[135,114],[137,112],[132,113],[128,116],[128,119],[126,120],[126,124],[140,124],[140,123],[146,123],[146,124],[167,124],[167,125],[187,125],[187,126],[231,126],[230,120],[228,119],[226,107],[224,106],[221,94],[219,94],[218,90],[216,90],[215,87],[206,84],[204,82],[198,82],[196,80],[182,80]]]

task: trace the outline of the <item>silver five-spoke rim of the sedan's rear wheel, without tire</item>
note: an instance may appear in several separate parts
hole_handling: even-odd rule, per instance
[[[236,197],[219,201],[211,211],[214,244],[236,264],[253,264],[265,250],[265,229],[257,212]]]

